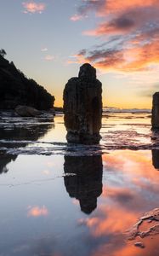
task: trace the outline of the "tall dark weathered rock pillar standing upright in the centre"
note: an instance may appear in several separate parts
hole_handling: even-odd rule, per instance
[[[101,83],[96,70],[86,63],[80,67],[78,78],[65,84],[64,113],[69,143],[99,143],[102,98]]]

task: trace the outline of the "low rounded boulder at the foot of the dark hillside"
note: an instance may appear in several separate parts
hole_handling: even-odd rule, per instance
[[[31,108],[27,106],[17,106],[15,112],[21,117],[37,117],[41,114],[36,108]]]

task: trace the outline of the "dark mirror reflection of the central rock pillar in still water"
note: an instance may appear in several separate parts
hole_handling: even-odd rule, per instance
[[[82,212],[87,214],[97,207],[97,197],[102,193],[102,158],[95,156],[65,156],[65,189],[80,202]]]

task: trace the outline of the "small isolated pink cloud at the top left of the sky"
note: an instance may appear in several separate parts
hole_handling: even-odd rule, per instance
[[[45,3],[36,3],[34,1],[28,1],[28,2],[24,2],[22,3],[23,7],[24,7],[24,13],[30,13],[30,14],[42,14],[43,10],[46,8]]]

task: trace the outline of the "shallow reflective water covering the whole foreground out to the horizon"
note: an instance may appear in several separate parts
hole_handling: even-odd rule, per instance
[[[127,240],[159,207],[150,115],[106,113],[101,136],[99,146],[68,145],[62,115],[2,116],[0,256],[159,255],[159,236],[143,239],[144,249]]]

